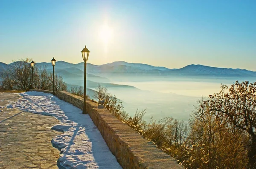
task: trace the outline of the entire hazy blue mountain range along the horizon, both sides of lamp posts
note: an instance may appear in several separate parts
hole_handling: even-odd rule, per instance
[[[5,64],[0,62],[0,72],[8,69],[15,63]],[[49,72],[52,71],[52,63],[36,63],[36,66],[46,66]],[[57,61],[55,64],[56,73],[64,77],[82,77],[84,72],[84,62],[73,64],[64,61]],[[157,74],[157,75],[170,75],[170,76],[237,76],[237,77],[251,77],[256,76],[256,72],[245,69],[232,69],[232,68],[217,68],[204,65],[188,65],[180,69],[168,69],[166,67],[151,66],[142,63],[127,63],[118,61],[107,63],[103,65],[93,65],[87,63],[87,75],[93,78],[101,77],[101,74]],[[103,81],[108,81],[105,78]]]

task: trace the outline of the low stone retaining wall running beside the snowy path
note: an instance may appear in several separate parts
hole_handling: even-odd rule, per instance
[[[58,91],[55,95],[83,109],[82,97],[64,91]],[[98,109],[98,104],[90,100],[86,100],[86,107],[87,113],[123,169],[183,169],[175,158],[157,149],[151,141],[119,121],[107,109]]]

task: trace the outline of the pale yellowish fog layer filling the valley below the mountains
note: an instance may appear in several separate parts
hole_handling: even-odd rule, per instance
[[[134,86],[137,89],[125,87],[108,87],[108,91],[123,101],[126,112],[134,115],[138,110],[147,108],[145,119],[151,116],[161,119],[172,116],[179,120],[188,120],[196,101],[202,97],[219,92],[220,84],[228,86],[236,80],[250,82],[256,78],[241,77],[159,77],[159,76],[115,76],[107,77],[115,84]],[[69,84],[83,86],[83,79],[64,79]],[[95,86],[96,87],[96,86]],[[90,89],[95,89],[90,87]]]

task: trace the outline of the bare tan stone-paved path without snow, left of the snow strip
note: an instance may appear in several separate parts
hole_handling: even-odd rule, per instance
[[[0,106],[19,97],[0,92]],[[0,110],[0,169],[58,169],[60,152],[51,143],[62,134],[51,129],[58,120],[19,109]]]

